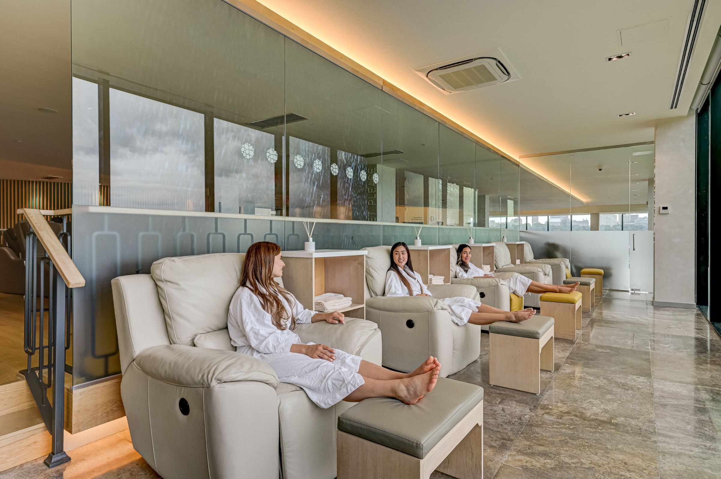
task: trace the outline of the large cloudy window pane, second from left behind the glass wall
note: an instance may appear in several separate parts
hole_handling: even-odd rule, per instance
[[[110,204],[205,211],[200,113],[110,89]]]

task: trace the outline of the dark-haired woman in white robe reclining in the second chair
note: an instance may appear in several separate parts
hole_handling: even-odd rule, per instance
[[[391,248],[391,267],[386,272],[386,296],[433,296],[423,284],[420,274],[413,271],[410,251],[406,243],[395,243]],[[446,297],[443,303],[451,310],[451,320],[463,325],[490,324],[496,321],[520,323],[531,318],[536,311],[526,308],[521,311],[504,311],[484,305],[468,297]]]

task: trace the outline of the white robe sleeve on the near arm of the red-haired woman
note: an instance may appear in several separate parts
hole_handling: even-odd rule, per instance
[[[236,308],[235,317],[240,320],[237,326],[242,328],[249,345],[257,352],[290,352],[292,344],[304,344],[293,331],[276,328],[270,314],[260,305],[260,299],[247,288],[239,295],[239,301],[231,303],[232,307]]]

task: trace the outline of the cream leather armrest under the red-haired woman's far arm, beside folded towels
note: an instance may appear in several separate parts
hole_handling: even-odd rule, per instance
[[[379,332],[376,323],[359,318],[345,318],[345,324],[331,324],[327,321],[296,324],[293,329],[293,333],[300,336],[304,343],[327,344],[355,355]]]

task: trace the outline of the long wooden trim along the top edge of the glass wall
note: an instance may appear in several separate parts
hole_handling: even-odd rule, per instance
[[[294,40],[303,45],[304,47],[308,48],[312,52],[321,55],[323,58],[326,58],[329,61],[332,61],[337,66],[348,70],[350,73],[353,73],[353,75],[358,76],[358,78],[368,81],[369,84],[376,86],[376,88],[379,88],[382,91],[385,91],[392,97],[397,98],[400,101],[409,104],[411,107],[420,110],[420,112],[425,113],[425,115],[428,115],[434,120],[441,122],[441,124],[451,128],[451,130],[455,130],[457,133],[464,135],[466,138],[469,138],[470,140],[473,140],[474,142],[479,143],[486,148],[489,148],[494,153],[503,156],[503,158],[507,159],[513,164],[519,164],[516,158],[513,158],[508,155],[508,153],[505,153],[499,148],[496,148],[483,138],[472,133],[470,130],[459,125],[445,115],[437,112],[435,109],[429,107],[427,104],[421,102],[419,99],[412,97],[406,91],[399,89],[397,86],[390,83],[389,81],[382,79],[380,76],[376,75],[376,73],[368,70],[368,68],[362,66],[360,63],[351,60],[346,55],[343,55],[327,43],[322,42],[322,40],[319,40],[305,30],[302,30],[296,24],[289,22],[288,19],[280,17],[279,14],[273,12],[273,10],[267,8],[267,6],[260,4],[255,0],[224,1],[227,4],[231,4],[232,6],[236,7],[236,9],[239,9],[240,11],[249,14],[251,17],[257,19],[259,22],[266,24],[268,27],[279,32],[281,35],[285,35],[291,40]]]

